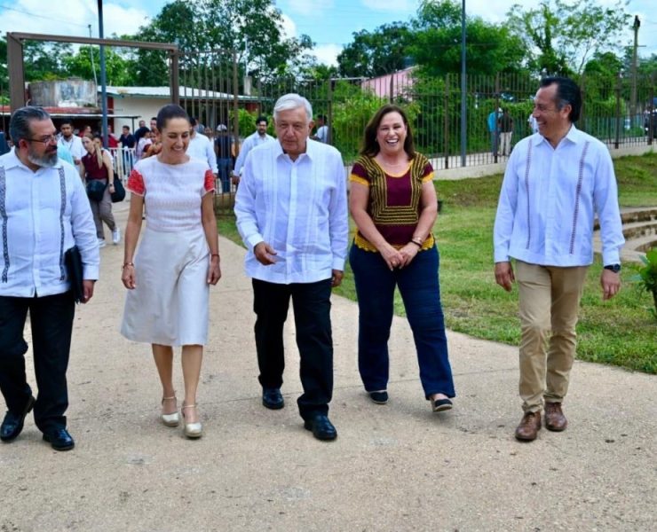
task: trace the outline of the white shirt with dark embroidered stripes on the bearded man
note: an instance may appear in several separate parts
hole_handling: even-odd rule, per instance
[[[67,162],[33,172],[13,150],[0,157],[0,226],[0,295],[67,292],[64,253],[75,245],[83,278],[99,278],[91,207],[78,172]]]

